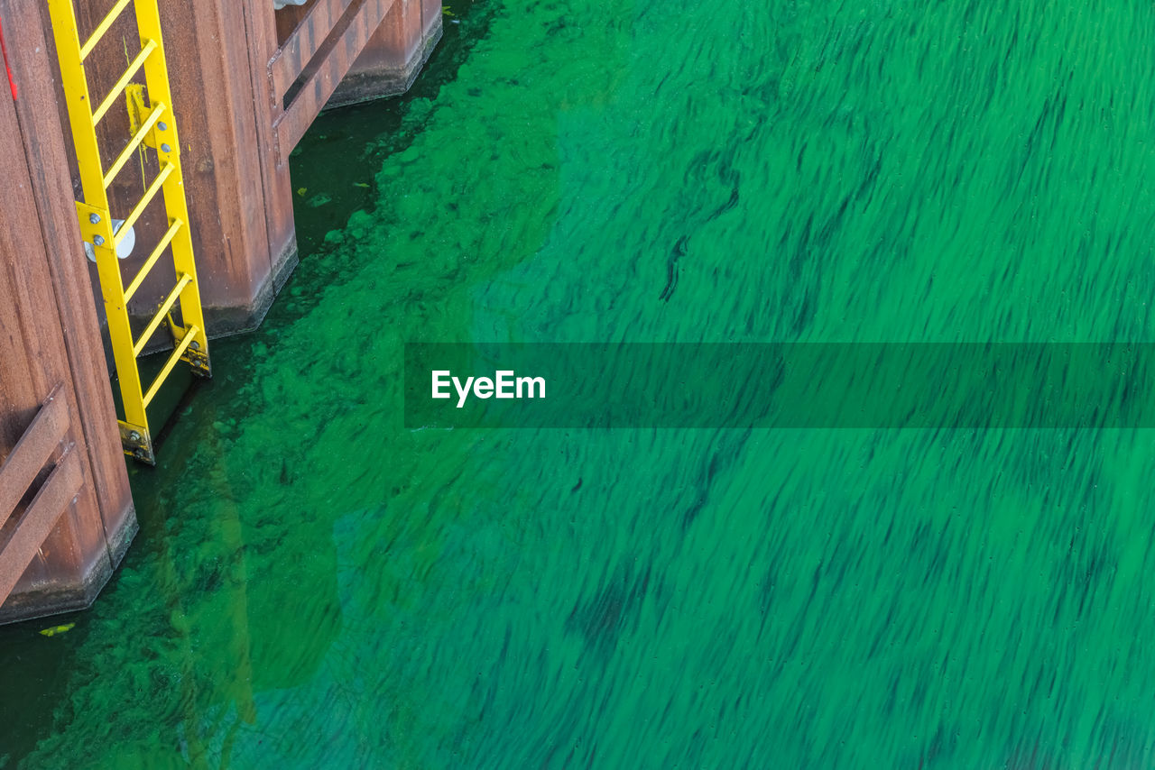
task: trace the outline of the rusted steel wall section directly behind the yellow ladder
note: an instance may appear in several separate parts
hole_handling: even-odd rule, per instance
[[[114,3],[74,0],[81,39]],[[281,174],[270,172],[262,158],[270,152],[267,105],[271,96],[267,77],[254,76],[249,47],[252,43],[275,50],[271,5],[260,8],[264,13],[256,18],[249,18],[248,3],[187,0],[158,5],[206,323],[213,337],[248,331],[260,324],[297,257],[288,167]],[[251,35],[256,37],[251,39]],[[125,69],[126,51],[133,57],[139,50],[129,8],[85,61],[92,94],[107,92]],[[134,82],[143,83],[143,75]],[[60,105],[67,126],[62,97]],[[98,135],[107,164],[128,135],[127,112],[113,107]],[[75,163],[69,167],[75,169]],[[155,159],[144,154],[120,172],[110,189],[113,217],[125,218],[157,171]],[[74,187],[76,197],[82,197],[79,185]],[[147,245],[155,244],[167,225],[157,200],[136,224],[137,248],[121,262],[126,283],[147,259]],[[172,289],[174,274],[167,264],[162,260],[129,302],[134,327],[143,328]],[[90,272],[95,284],[95,268]],[[96,297],[99,301],[98,292]],[[146,350],[169,343],[157,335]]]

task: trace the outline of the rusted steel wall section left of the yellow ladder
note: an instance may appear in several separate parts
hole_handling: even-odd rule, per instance
[[[0,89],[0,464],[59,388],[68,428],[47,466],[70,447],[81,473],[79,493],[31,563],[14,563],[3,550],[31,495],[0,528],[0,580],[22,575],[0,605],[5,622],[88,606],[124,555],[136,517],[37,0],[0,0],[0,21],[20,89],[15,99]]]

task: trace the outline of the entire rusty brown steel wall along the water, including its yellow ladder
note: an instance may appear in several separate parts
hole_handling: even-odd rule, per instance
[[[127,316],[134,354],[170,347],[172,364],[256,328],[297,262],[289,154],[323,107],[405,90],[441,35],[439,0],[51,3],[50,14],[49,0],[0,0],[0,622],[88,606],[136,532],[124,454],[134,446],[105,353],[112,314]],[[75,14],[84,99],[99,104],[85,106],[96,145],[110,148],[97,166],[119,163],[96,209],[58,59],[59,3]],[[144,74],[146,48],[159,46],[146,33],[152,13],[171,105],[146,96],[157,91]],[[172,120],[170,143],[158,124]],[[174,201],[169,180],[187,201],[178,218],[195,270],[172,251],[174,215],[146,200],[151,189]],[[146,247],[118,262],[125,236],[110,226],[125,219]],[[105,268],[135,276],[122,307],[102,292],[102,252]],[[166,252],[176,275],[151,269]],[[199,307],[174,321],[189,286]],[[172,334],[155,335],[164,323]]]

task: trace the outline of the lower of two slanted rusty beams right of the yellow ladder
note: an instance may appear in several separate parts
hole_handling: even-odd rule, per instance
[[[282,157],[288,157],[305,135],[329,96],[336,90],[341,79],[349,72],[357,54],[385,20],[389,8],[394,2],[401,1],[403,0],[363,0],[362,7],[349,20],[348,27],[334,30],[336,37],[330,37],[321,46],[318,57],[323,57],[323,61],[310,74],[292,104],[274,124]]]

